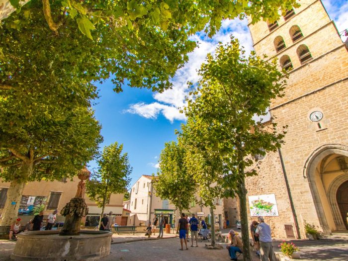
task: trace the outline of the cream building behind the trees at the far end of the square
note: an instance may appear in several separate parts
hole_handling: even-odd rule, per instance
[[[223,212],[223,200],[216,198],[215,227],[223,227],[225,218]],[[179,211],[168,200],[162,200],[156,196],[156,191],[152,186],[152,176],[142,175],[131,187],[130,191],[130,207],[131,211],[128,225],[145,225],[152,221],[155,215],[164,214],[166,224],[171,224],[172,227],[177,225],[179,220]],[[185,214],[196,214],[198,217],[210,217],[208,207],[198,205],[196,202],[191,202],[189,211]]]

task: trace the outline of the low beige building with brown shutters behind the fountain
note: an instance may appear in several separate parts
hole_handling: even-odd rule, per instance
[[[33,181],[28,182],[23,191],[20,202],[18,216],[27,222],[33,218],[33,213],[36,209],[44,211],[44,215],[50,214],[53,210],[59,211],[73,198],[76,194],[80,179],[76,176],[73,180],[63,179],[61,181]],[[0,213],[2,212],[5,202],[6,193],[9,187],[9,182],[0,182]],[[91,201],[87,195],[85,200],[88,206],[88,215],[84,220],[86,226],[97,226],[101,209],[97,207],[94,201]],[[110,203],[105,206],[105,213],[113,212],[115,215],[115,223],[121,224],[125,222],[123,217],[128,217],[129,214],[123,213],[123,194],[112,194]],[[57,221],[64,221],[64,217],[58,211]]]

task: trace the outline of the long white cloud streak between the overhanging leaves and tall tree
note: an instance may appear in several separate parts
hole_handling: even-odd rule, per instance
[[[162,113],[171,122],[174,120],[185,121],[185,115],[180,113],[179,110],[185,105],[185,96],[188,95],[187,82],[197,83],[199,79],[197,70],[204,62],[207,54],[214,53],[219,42],[229,42],[231,34],[238,38],[247,53],[250,53],[252,39],[247,23],[247,20],[224,20],[220,31],[212,39],[204,36],[203,33],[191,36],[191,40],[199,42],[198,47],[188,55],[188,62],[176,72],[171,80],[173,88],[162,93],[154,93],[155,101],[152,103],[139,102],[131,104],[126,112],[149,119],[156,119]]]

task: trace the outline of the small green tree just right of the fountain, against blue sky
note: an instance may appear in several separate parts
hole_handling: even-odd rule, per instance
[[[104,213],[111,194],[127,191],[132,167],[129,164],[128,154],[122,153],[122,150],[123,144],[118,145],[117,142],[104,147],[98,160],[97,171],[86,182],[87,195],[101,208],[100,216]]]

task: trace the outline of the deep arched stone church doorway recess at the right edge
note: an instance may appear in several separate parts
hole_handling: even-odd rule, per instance
[[[338,205],[337,193],[339,187],[348,181],[348,147],[329,144],[318,148],[307,159],[304,174],[308,178],[318,221],[324,234],[346,230],[347,225]]]

